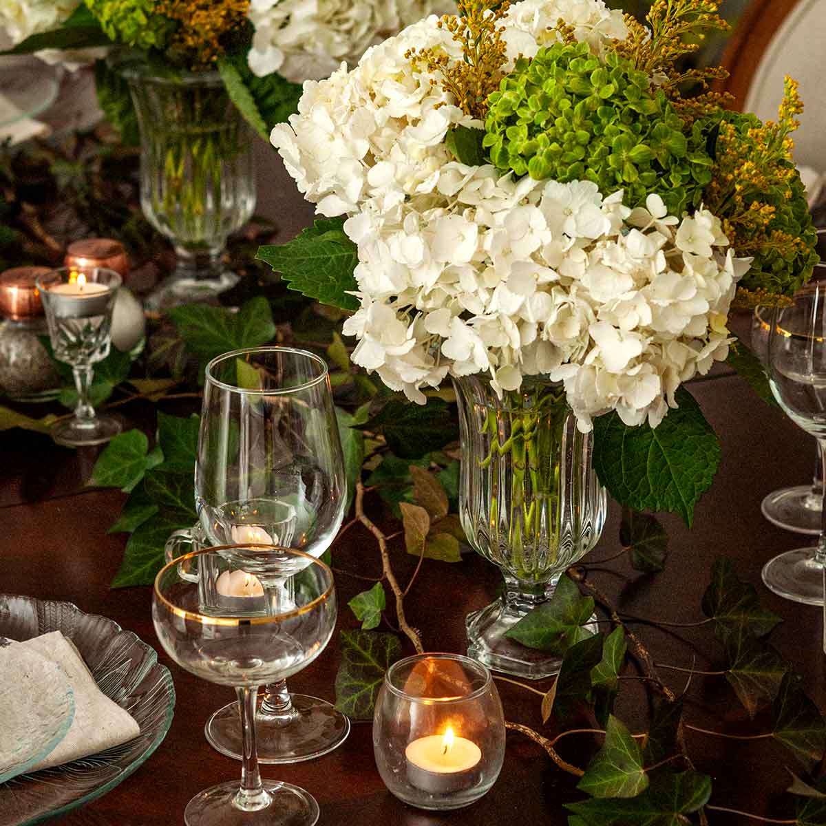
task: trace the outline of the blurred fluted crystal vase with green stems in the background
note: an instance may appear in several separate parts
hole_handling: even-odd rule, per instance
[[[159,77],[126,60],[117,68],[140,126],[140,206],[178,257],[150,304],[211,297],[238,280],[223,255],[255,207],[252,131],[217,72]]]

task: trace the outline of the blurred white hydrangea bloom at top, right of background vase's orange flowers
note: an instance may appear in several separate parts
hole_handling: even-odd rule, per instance
[[[259,77],[319,80],[431,12],[455,11],[449,0],[251,0],[249,68]]]

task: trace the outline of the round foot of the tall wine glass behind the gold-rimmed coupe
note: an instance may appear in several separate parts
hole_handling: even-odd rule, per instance
[[[296,712],[286,721],[255,715],[259,763],[298,763],[321,757],[347,738],[350,721],[335,706],[318,697],[291,694]],[[260,706],[259,706],[260,710]],[[212,714],[204,729],[207,742],[227,757],[241,759],[240,710],[229,703]]]

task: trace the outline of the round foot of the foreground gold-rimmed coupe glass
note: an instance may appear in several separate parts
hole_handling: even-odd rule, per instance
[[[313,826],[318,820],[316,799],[298,786],[263,781],[270,802],[248,811],[235,805],[238,781],[211,786],[195,795],[183,813],[187,826]]]

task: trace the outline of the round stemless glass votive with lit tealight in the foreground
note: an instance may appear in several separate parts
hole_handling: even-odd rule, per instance
[[[420,809],[461,809],[493,786],[505,717],[491,674],[459,654],[416,654],[384,677],[373,752],[385,786]]]

